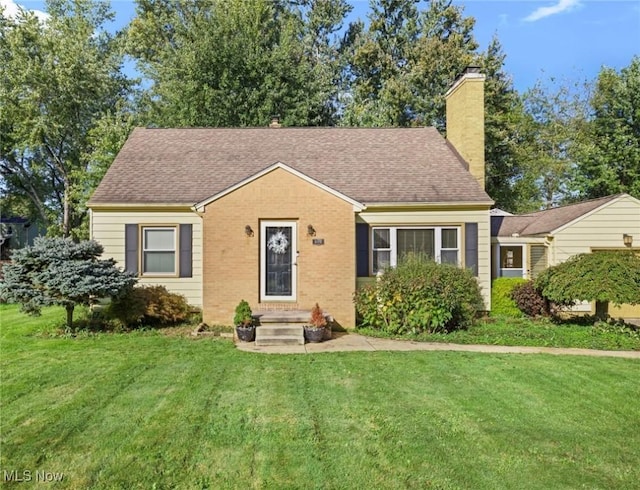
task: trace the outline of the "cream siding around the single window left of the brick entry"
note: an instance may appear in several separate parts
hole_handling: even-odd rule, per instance
[[[189,304],[202,306],[202,219],[192,211],[113,211],[92,210],[91,238],[104,247],[104,256],[113,257],[124,268],[124,235],[127,224],[193,225],[192,277],[140,277],[139,284],[160,284],[186,296]]]

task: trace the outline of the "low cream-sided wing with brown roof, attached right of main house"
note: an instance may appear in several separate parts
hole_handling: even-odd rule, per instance
[[[491,236],[493,278],[535,279],[580,253],[640,252],[640,200],[618,194],[517,216],[492,210]],[[640,306],[624,305],[611,314],[640,318]]]

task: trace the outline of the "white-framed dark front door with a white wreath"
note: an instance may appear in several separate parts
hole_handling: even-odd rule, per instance
[[[296,222],[260,223],[260,299],[296,299]]]

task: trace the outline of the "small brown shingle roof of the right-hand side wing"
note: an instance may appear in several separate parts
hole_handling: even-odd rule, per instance
[[[615,194],[517,216],[491,216],[491,236],[530,236],[553,233],[622,196],[626,194]]]

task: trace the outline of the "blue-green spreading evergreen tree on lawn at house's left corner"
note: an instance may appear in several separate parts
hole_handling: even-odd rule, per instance
[[[103,249],[95,241],[35,239],[33,246],[17,249],[12,263],[3,267],[0,297],[20,303],[23,311],[37,315],[43,306],[67,310],[67,327],[73,324],[76,305],[91,305],[102,297],[117,298],[136,279],[121,272],[113,259],[99,259]]]

